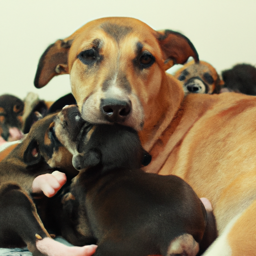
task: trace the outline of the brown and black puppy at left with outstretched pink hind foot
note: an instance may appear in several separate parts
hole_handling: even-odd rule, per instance
[[[89,255],[50,238],[33,202],[32,183],[41,174],[60,170],[73,177],[72,155],[56,139],[56,114],[36,121],[27,136],[0,162],[0,246],[27,245],[33,255]],[[48,216],[50,218],[50,216]],[[68,254],[69,253],[69,254]],[[91,252],[93,253],[93,252]]]

